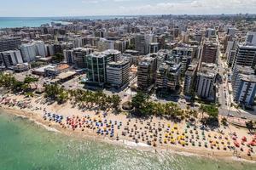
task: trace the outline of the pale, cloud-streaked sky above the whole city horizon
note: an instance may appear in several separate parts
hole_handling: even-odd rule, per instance
[[[0,0],[0,17],[256,13],[256,0]]]

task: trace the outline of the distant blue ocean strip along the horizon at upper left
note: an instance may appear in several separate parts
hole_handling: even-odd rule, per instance
[[[108,20],[108,19],[124,18],[124,17],[129,18],[131,16],[0,17],[0,28],[15,28],[15,27],[23,27],[23,26],[35,27],[35,26],[41,26],[42,24],[50,24],[54,20],[61,20],[61,19]],[[60,21],[55,21],[55,22],[60,22]]]

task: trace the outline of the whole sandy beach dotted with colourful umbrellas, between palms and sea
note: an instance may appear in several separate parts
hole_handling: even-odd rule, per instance
[[[9,95],[5,96],[5,99],[9,99],[9,104],[4,104],[1,99],[0,105],[9,113],[26,116],[38,122],[40,126],[74,138],[99,139],[140,150],[172,151],[184,155],[196,154],[256,162],[255,146],[250,147],[251,156],[248,156],[247,144],[253,136],[245,128],[229,125],[229,127],[208,129],[202,128],[199,122],[176,123],[155,116],[146,120],[127,118],[125,114],[114,115],[111,110],[81,111],[70,101],[64,105],[44,104],[42,97],[26,99],[21,95]],[[19,101],[27,102],[26,108],[20,109],[20,105],[17,105]],[[55,119],[53,115],[63,118]],[[235,141],[238,142],[239,147],[236,146]]]

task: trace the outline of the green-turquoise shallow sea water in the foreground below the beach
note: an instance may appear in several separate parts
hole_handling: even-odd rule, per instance
[[[73,139],[0,110],[1,170],[253,170],[255,167],[241,161],[153,153],[94,139]]]

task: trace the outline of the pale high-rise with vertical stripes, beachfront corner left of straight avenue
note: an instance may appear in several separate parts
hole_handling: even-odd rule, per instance
[[[214,99],[214,84],[217,76],[217,65],[201,63],[197,72],[196,94],[203,99]]]

